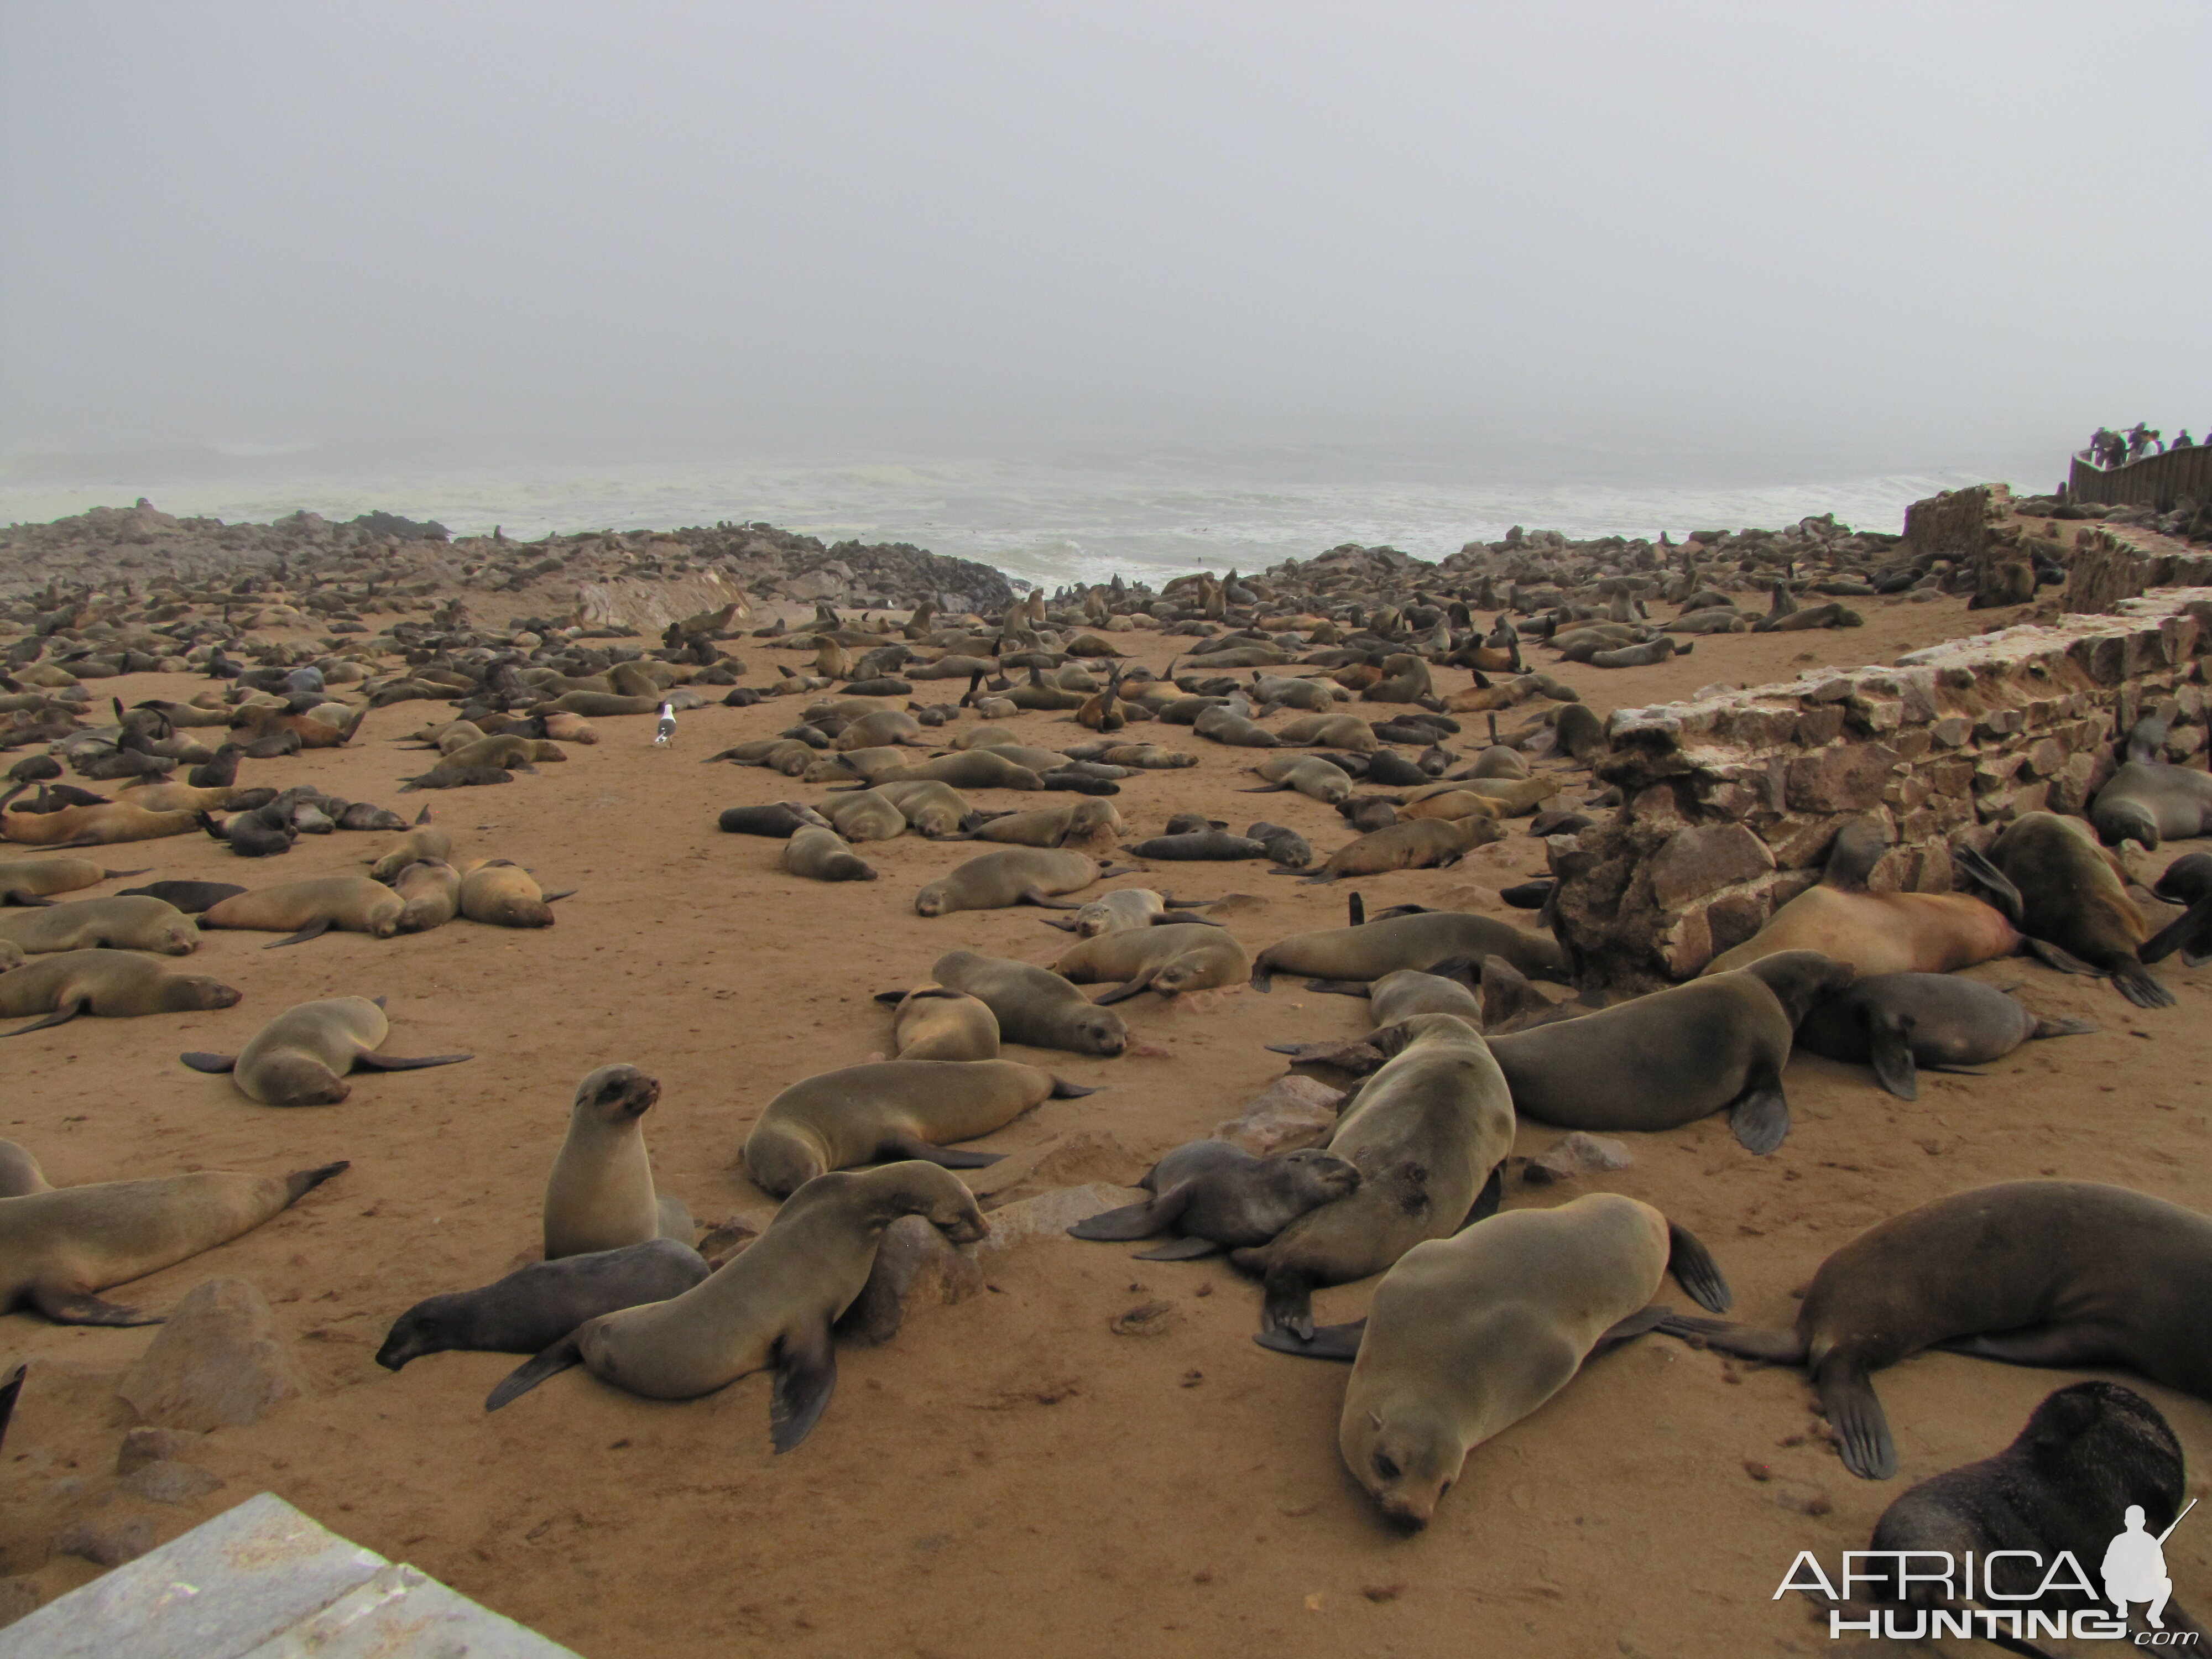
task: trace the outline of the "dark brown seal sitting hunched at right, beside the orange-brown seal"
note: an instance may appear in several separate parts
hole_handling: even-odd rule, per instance
[[[2174,1006],[2174,993],[2139,956],[2150,922],[2128,898],[2128,872],[2086,823],[2028,812],[2004,827],[1986,858],[1973,847],[1955,858],[2059,973],[2110,978],[2139,1009]]]

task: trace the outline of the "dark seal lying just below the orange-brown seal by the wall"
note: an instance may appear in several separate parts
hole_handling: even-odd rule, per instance
[[[1958,973],[1876,973],[1816,1004],[1798,1022],[1796,1046],[1827,1060],[1874,1066],[1891,1095],[1920,1099],[1920,1066],[1982,1066],[2031,1037],[2079,1037],[2093,1031],[2097,1026],[2081,1020],[2037,1020],[1997,987]]]

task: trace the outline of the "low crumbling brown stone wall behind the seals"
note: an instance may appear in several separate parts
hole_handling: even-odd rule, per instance
[[[1624,805],[1553,841],[1559,936],[1599,984],[1688,978],[1812,887],[1863,814],[1893,841],[1876,889],[1949,891],[1951,847],[2081,812],[2141,712],[2172,719],[2168,759],[2203,752],[2205,650],[2212,588],[2174,588],[1893,668],[1617,710],[1597,776]]]

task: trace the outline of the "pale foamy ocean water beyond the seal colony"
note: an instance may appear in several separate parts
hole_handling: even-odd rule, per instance
[[[2046,467],[2048,471],[2048,467]],[[914,542],[1055,586],[1115,573],[1259,571],[1343,542],[1444,557],[1509,526],[1568,538],[1781,526],[1834,513],[1896,531],[1905,509],[1995,471],[1823,476],[1809,462],[1637,453],[1214,447],[1055,456],[810,456],[721,462],[332,465],[314,451],[13,462],[0,522],[139,495],[230,522],[387,509],[456,533],[675,529],[765,520],[825,542]]]

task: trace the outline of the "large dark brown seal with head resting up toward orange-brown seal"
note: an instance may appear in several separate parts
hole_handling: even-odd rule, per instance
[[[1856,973],[1818,951],[1783,951],[1736,973],[1491,1037],[1513,1108],[1562,1128],[1657,1130],[1728,1108],[1745,1150],[1790,1135],[1783,1066],[1798,1020]]]

